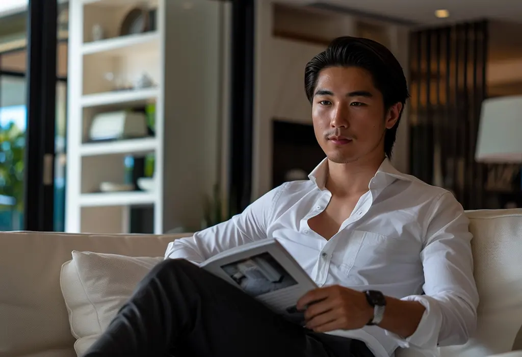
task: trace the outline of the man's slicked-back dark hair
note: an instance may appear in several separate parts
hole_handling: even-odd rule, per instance
[[[375,88],[383,94],[385,110],[398,102],[402,103],[404,110],[406,99],[409,98],[408,85],[397,58],[378,42],[349,36],[332,41],[325,51],[316,55],[306,65],[304,89],[310,103],[312,103],[319,72],[324,68],[337,66],[366,69],[372,74]],[[390,159],[401,116],[402,110],[397,123],[393,128],[387,129],[384,135],[384,151]]]

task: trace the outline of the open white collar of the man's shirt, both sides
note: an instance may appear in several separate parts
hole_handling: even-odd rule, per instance
[[[321,190],[325,189],[326,178],[328,176],[328,158],[319,163],[308,175],[308,178]],[[395,180],[413,181],[413,176],[399,172],[394,168],[388,158],[385,158],[381,166],[370,181],[369,188],[384,188]]]

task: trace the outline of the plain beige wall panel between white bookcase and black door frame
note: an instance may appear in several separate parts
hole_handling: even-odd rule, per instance
[[[164,231],[198,229],[205,196],[223,180],[230,4],[165,1]],[[180,35],[183,33],[183,35]],[[195,45],[197,44],[197,45]]]

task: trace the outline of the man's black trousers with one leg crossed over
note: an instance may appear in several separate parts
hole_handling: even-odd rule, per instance
[[[149,272],[85,356],[374,357],[363,342],[292,324],[181,259]]]

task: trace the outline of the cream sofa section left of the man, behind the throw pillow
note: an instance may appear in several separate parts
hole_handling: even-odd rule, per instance
[[[177,235],[0,233],[0,357],[75,357],[60,270],[71,252],[162,256]]]

